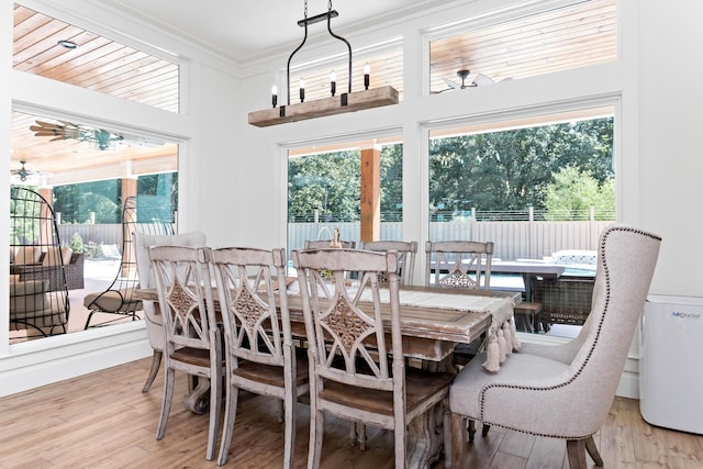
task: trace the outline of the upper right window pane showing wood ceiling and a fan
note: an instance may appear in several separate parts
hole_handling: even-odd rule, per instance
[[[526,18],[496,21],[431,42],[432,93],[601,64],[617,57],[615,0],[584,1]]]

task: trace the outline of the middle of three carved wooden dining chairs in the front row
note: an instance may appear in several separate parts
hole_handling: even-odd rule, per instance
[[[239,390],[283,401],[283,467],[292,468],[298,398],[309,391],[308,360],[291,337],[286,250],[225,247],[212,250],[224,324],[225,416],[217,465],[232,444]]]

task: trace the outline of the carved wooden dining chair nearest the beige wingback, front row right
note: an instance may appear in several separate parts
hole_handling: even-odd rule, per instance
[[[404,468],[408,425],[446,402],[453,375],[405,366],[398,253],[320,249],[293,250],[292,256],[310,343],[308,467],[320,467],[324,414],[330,413],[392,429],[395,467]],[[364,272],[358,286],[345,280],[346,272],[355,271]],[[390,316],[381,306],[380,273],[389,279]]]

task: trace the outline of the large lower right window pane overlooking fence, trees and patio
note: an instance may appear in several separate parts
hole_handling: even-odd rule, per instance
[[[429,239],[493,242],[491,289],[540,302],[542,332],[574,335],[590,312],[613,125],[606,108],[431,132]]]

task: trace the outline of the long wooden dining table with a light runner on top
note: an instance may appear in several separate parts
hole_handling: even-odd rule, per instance
[[[304,335],[302,297],[294,289],[288,291],[291,330],[293,335]],[[504,314],[507,309],[512,316],[514,305],[522,301],[521,292],[514,291],[416,286],[403,286],[399,295],[403,355],[426,370],[455,373],[458,369],[453,356],[457,344],[470,344],[490,335],[500,327],[495,313],[501,311]],[[153,301],[158,311],[156,289],[137,289],[135,297]],[[372,308],[370,301],[360,301],[359,306]],[[389,321],[390,336],[390,304],[382,301],[381,308]],[[207,392],[207,389],[198,387],[198,392]],[[189,397],[187,402],[194,404],[198,399]],[[437,405],[411,422],[408,467],[429,468],[442,456],[445,440],[449,440],[444,437],[445,412],[443,405]]]

